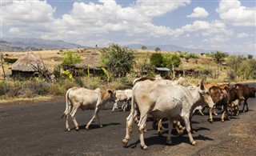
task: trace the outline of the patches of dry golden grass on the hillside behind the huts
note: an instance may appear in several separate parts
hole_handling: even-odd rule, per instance
[[[64,50],[65,51],[65,50]],[[90,50],[72,50],[74,53],[79,54],[82,60],[84,60],[90,54]],[[82,52],[81,52],[82,51]],[[136,62],[143,62],[146,58],[150,58],[150,55],[155,53],[154,50],[134,50],[134,56]],[[5,57],[7,58],[21,58],[22,55],[26,54],[26,52],[3,52]],[[62,63],[63,54],[60,50],[41,50],[41,51],[33,51],[33,53],[38,57],[41,58],[43,62],[46,64],[50,71],[54,70],[54,67],[57,67]],[[161,51],[162,54],[167,53],[166,51]],[[190,58],[188,62],[185,58],[182,58],[182,66],[184,69],[210,69],[216,71],[218,69],[217,64],[214,62],[212,58],[208,58],[206,56],[200,56],[199,58]],[[11,64],[4,63],[4,68],[6,74],[10,75]],[[202,69],[201,69],[202,70]],[[2,69],[0,69],[0,78],[3,78]],[[222,81],[223,78],[226,78],[226,70],[223,69],[221,71],[221,75],[219,81]],[[216,79],[214,79],[216,81]]]

